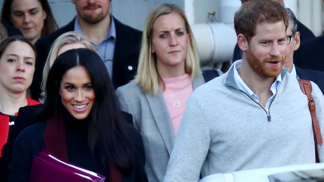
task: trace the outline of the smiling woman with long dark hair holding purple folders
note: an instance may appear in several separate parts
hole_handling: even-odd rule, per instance
[[[131,115],[120,111],[104,63],[92,50],[57,57],[40,118],[15,141],[9,182],[28,181],[32,158],[42,149],[106,176],[105,182],[147,182],[141,136]]]

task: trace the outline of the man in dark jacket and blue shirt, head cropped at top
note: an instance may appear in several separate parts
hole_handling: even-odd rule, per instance
[[[61,34],[76,31],[85,35],[96,45],[115,88],[127,84],[137,71],[142,32],[121,23],[109,13],[111,0],[72,0],[76,17],[55,32],[40,38],[35,47],[37,60],[32,98],[38,99],[42,71],[51,44]]]

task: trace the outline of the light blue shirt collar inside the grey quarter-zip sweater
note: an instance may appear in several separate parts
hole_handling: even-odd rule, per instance
[[[234,80],[237,84],[237,86],[239,87],[239,89],[241,89],[243,92],[245,92],[246,94],[248,94],[254,101],[256,101],[257,103],[259,103],[259,96],[256,95],[242,80],[241,76],[239,75],[239,72],[237,71],[238,69],[240,69],[242,66],[242,59],[235,61],[234,62]],[[276,95],[276,93],[279,90],[279,87],[281,85],[281,73],[279,73],[279,75],[277,76],[275,82],[271,85],[270,87],[270,91],[272,92],[272,96],[268,99],[267,103],[266,103],[266,107],[265,109],[269,112],[269,106],[270,103],[272,102],[272,100],[274,100],[274,97]]]

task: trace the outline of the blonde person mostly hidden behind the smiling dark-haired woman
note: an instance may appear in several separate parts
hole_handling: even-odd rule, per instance
[[[69,31],[57,37],[57,39],[53,42],[53,45],[48,53],[48,57],[43,69],[42,80],[40,80],[39,78],[38,79],[34,78],[34,82],[38,83],[37,84],[38,88],[35,87],[31,88],[32,90],[31,95],[33,98],[37,95],[37,98],[39,98],[40,101],[43,101],[43,97],[44,97],[43,91],[45,90],[47,75],[56,57],[69,49],[76,49],[76,48],[88,48],[96,52],[93,43],[91,43],[86,37],[84,37],[78,32]],[[40,96],[39,93],[41,93]]]

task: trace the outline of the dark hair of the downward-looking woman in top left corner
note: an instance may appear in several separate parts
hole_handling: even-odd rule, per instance
[[[1,12],[1,18],[0,22],[1,23],[6,23],[11,26],[13,26],[13,23],[10,20],[10,11],[11,11],[11,4],[13,0],[4,0],[3,5],[2,5],[2,12]],[[57,24],[54,19],[52,10],[49,7],[48,1],[47,0],[38,0],[41,4],[41,7],[46,13],[46,19],[44,19],[44,26],[43,29],[41,30],[41,36],[47,35],[57,29]]]

